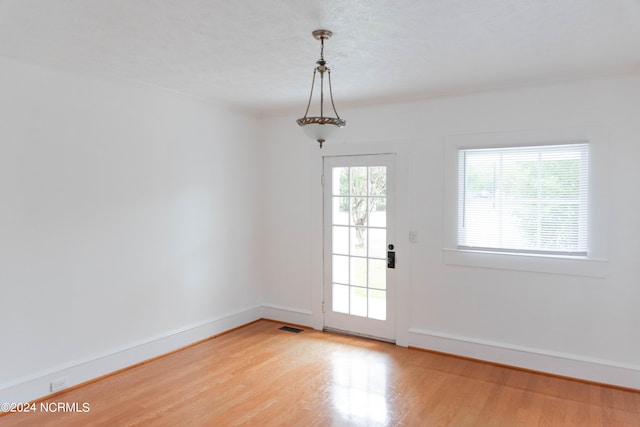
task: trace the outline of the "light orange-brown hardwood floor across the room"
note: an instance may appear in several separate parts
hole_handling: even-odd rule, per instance
[[[43,402],[77,412],[38,406],[0,427],[640,426],[638,392],[281,325],[259,321]]]

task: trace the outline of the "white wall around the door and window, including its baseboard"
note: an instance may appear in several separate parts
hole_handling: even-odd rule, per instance
[[[265,250],[264,298],[272,316],[318,327],[322,152],[292,117],[263,122],[269,147],[265,185],[273,194],[265,206],[265,242],[266,248],[278,248]],[[639,76],[341,108],[341,117],[349,125],[339,140],[326,144],[325,153],[386,146],[408,159],[400,183],[408,200],[399,214],[408,225],[398,242],[399,262],[405,260],[400,286],[406,291],[399,341],[640,388]],[[586,127],[608,135],[601,141],[608,159],[598,159],[608,162],[608,206],[599,209],[608,210],[601,223],[607,229],[606,277],[444,263],[448,135]],[[418,243],[408,243],[409,229],[418,232]]]

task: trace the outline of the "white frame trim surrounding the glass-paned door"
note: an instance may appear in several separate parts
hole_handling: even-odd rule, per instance
[[[308,142],[308,141],[301,141]],[[376,154],[395,154],[396,157],[396,295],[395,295],[395,338],[396,345],[406,347],[409,343],[409,319],[411,312],[409,288],[411,277],[411,257],[409,244],[409,196],[411,193],[411,141],[359,142],[353,144],[328,143],[319,149],[309,145],[309,194],[311,220],[309,221],[310,239],[310,284],[311,284],[311,326],[316,330],[324,329],[324,189],[322,175],[324,157],[367,156]],[[406,148],[405,148],[406,147]]]

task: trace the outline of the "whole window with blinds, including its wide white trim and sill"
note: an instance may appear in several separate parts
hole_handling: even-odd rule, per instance
[[[605,127],[447,135],[446,265],[606,277]]]

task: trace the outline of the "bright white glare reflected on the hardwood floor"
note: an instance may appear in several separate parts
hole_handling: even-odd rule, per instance
[[[333,406],[352,425],[385,425],[388,420],[387,366],[362,353],[334,353]]]

